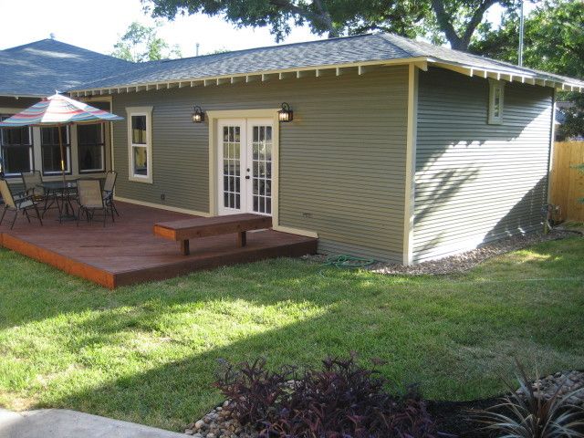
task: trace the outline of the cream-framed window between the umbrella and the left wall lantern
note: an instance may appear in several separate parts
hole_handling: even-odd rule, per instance
[[[129,107],[128,178],[141,183],[152,182],[152,107]]]

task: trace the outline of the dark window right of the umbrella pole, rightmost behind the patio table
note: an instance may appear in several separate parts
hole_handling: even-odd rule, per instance
[[[78,125],[79,172],[105,172],[105,135],[103,123]]]

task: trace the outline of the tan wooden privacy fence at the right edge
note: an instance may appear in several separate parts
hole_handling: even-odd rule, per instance
[[[558,141],[554,146],[550,202],[562,209],[562,219],[584,221],[584,173],[574,166],[584,163],[584,141]]]

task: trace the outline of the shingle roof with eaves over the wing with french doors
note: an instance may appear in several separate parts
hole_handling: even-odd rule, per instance
[[[187,57],[135,65],[135,68],[109,78],[88,82],[71,90],[83,92],[120,92],[123,89],[148,89],[159,86],[198,85],[216,80],[252,75],[287,74],[303,70],[366,67],[419,62],[422,68],[435,65],[470,76],[519,80],[537,85],[582,90],[584,82],[530,68],[479,57],[446,47],[390,34],[367,34],[273,47],[259,47],[202,57]],[[280,75],[282,78],[282,75]],[[264,79],[264,77],[262,77]],[[184,82],[184,84],[183,84]]]

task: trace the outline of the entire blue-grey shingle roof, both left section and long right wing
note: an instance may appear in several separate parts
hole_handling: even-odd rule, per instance
[[[0,96],[136,87],[396,59],[477,68],[584,87],[584,82],[391,34],[368,34],[135,64],[53,39],[0,50]],[[551,84],[550,84],[551,85]]]

